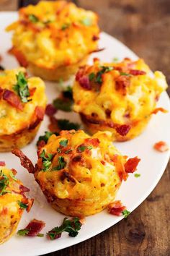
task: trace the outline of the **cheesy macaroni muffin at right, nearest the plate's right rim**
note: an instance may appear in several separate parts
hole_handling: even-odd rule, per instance
[[[156,114],[156,102],[166,88],[164,74],[152,74],[142,59],[104,64],[94,59],[76,74],[73,109],[90,134],[108,130],[112,140],[130,140]]]

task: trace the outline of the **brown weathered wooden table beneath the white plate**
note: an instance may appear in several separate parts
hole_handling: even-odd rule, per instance
[[[0,10],[16,10],[24,0],[0,0]],[[161,70],[170,82],[169,0],[76,0],[99,14],[102,30],[115,36]],[[170,93],[170,90],[169,90]],[[170,164],[151,195],[107,231],[48,256],[170,255]],[[149,170],[148,170],[149,171]]]

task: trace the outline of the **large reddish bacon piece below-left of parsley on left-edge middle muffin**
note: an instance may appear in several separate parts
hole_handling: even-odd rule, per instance
[[[19,97],[12,92],[12,90],[5,90],[3,94],[4,101],[7,101],[10,105],[14,106],[14,108],[17,108],[21,111],[23,111],[22,103],[19,99]]]

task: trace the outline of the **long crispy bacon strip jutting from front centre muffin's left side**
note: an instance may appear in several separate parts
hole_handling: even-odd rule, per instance
[[[12,154],[17,155],[17,157],[20,158],[21,165],[28,170],[30,174],[34,174],[35,167],[33,166],[32,161],[30,161],[29,158],[27,158],[26,155],[22,152],[22,150],[19,150],[18,148],[14,148],[12,150]]]

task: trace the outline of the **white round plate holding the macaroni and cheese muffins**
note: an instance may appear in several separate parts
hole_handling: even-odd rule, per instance
[[[0,54],[3,56],[2,64],[8,69],[17,67],[18,64],[12,56],[6,53],[11,46],[11,35],[10,33],[4,32],[4,27],[16,19],[16,12],[1,12],[0,14]],[[130,57],[132,59],[137,58],[130,49],[106,33],[101,34],[99,46],[106,49],[93,54],[91,59],[94,56],[99,57],[102,61],[112,61],[113,57],[118,57],[119,59],[124,57]],[[46,85],[48,101],[51,102],[53,98],[56,97],[58,90],[54,83],[46,82]],[[161,95],[158,105],[170,109],[169,97],[166,93]],[[71,121],[79,121],[77,114],[58,112],[57,116],[60,118],[69,117]],[[34,163],[36,162],[35,143],[37,138],[47,129],[47,122],[48,118],[45,117],[35,140],[31,145],[23,149],[24,153],[26,153]],[[164,169],[169,160],[169,152],[158,153],[156,150],[153,150],[153,144],[159,140],[164,140],[170,145],[169,130],[170,114],[158,113],[153,115],[151,122],[142,135],[129,142],[115,143],[123,154],[130,157],[138,155],[138,157],[141,158],[138,166],[138,173],[141,174],[140,178],[136,179],[133,174],[130,175],[128,181],[122,183],[122,187],[117,194],[117,200],[122,200],[123,204],[126,205],[130,211],[137,208],[138,205],[148,197],[164,173]],[[23,229],[32,218],[45,221],[46,226],[45,229],[42,230],[44,234],[54,226],[60,225],[64,216],[50,208],[40,188],[34,181],[33,175],[28,174],[27,171],[20,166],[19,159],[12,155],[12,153],[1,153],[0,161],[6,161],[6,165],[9,166],[9,168],[16,168],[18,170],[17,177],[22,179],[25,186],[30,187],[30,196],[35,197],[33,208],[29,214],[24,213],[22,221],[19,223],[19,229]],[[95,216],[86,218],[86,223],[82,226],[79,235],[75,238],[69,237],[68,234],[63,234],[60,239],[55,241],[49,241],[46,237],[27,238],[14,235],[12,239],[0,246],[1,255],[35,256],[63,249],[99,234],[110,226],[115,225],[118,221],[121,221],[121,219],[122,217],[111,216],[107,211],[103,211]]]

